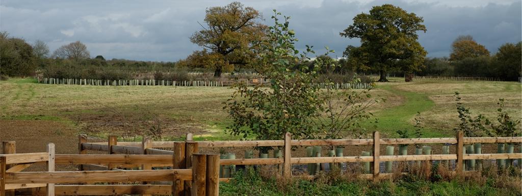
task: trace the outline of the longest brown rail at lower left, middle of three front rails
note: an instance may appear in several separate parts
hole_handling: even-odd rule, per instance
[[[192,180],[192,169],[132,170],[132,171],[38,171],[7,173],[6,184],[19,183],[94,183]]]

